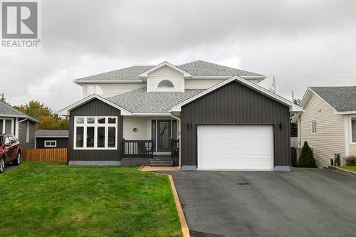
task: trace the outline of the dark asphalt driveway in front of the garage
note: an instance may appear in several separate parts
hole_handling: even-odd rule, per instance
[[[222,236],[355,236],[356,176],[327,169],[172,174],[189,229]]]

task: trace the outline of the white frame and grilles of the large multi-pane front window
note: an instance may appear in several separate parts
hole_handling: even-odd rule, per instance
[[[77,118],[83,117],[84,123],[77,123]],[[88,117],[94,117],[94,123],[87,123]],[[105,124],[98,123],[99,118],[105,118]],[[108,123],[108,118],[115,118],[115,123]],[[77,147],[77,127],[84,127],[83,147]],[[94,147],[87,147],[87,127],[94,127]],[[98,147],[98,127],[105,127],[105,146]],[[115,127],[115,147],[108,147],[108,127]],[[117,149],[117,116],[74,116],[73,149]]]

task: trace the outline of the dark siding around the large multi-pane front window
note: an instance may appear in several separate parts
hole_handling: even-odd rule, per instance
[[[117,149],[73,149],[74,116],[117,116]],[[121,159],[122,116],[120,110],[98,99],[70,111],[68,161],[117,161]]]

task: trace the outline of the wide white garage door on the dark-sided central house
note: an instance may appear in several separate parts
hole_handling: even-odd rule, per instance
[[[199,125],[198,169],[273,169],[273,127]]]

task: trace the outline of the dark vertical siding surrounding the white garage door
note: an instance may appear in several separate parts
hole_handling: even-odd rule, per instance
[[[274,166],[290,166],[289,108],[236,81],[184,105],[181,120],[182,165],[197,166],[197,125],[273,125]]]

